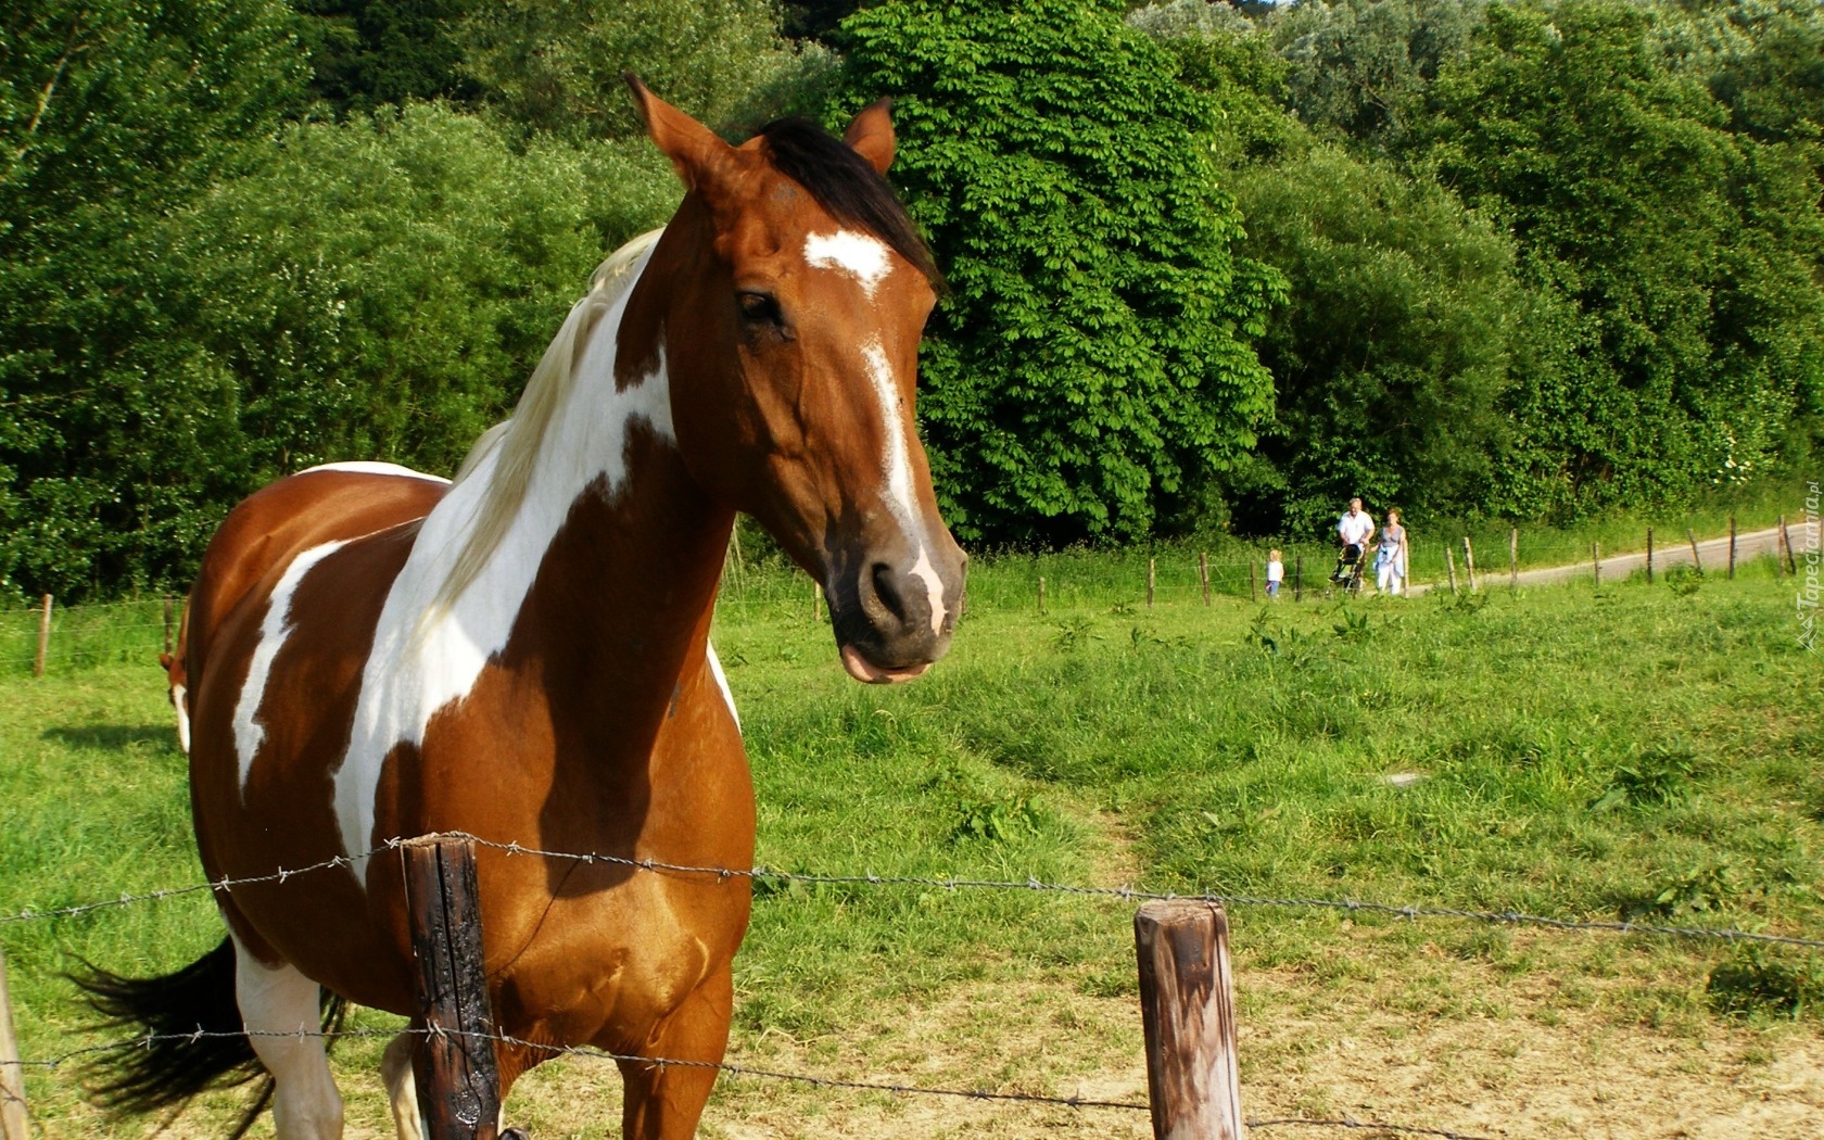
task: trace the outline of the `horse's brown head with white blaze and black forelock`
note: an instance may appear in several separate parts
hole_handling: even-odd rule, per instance
[[[664,290],[629,297],[617,378],[662,354],[691,476],[823,582],[850,675],[917,677],[950,644],[969,560],[914,429],[936,270],[881,177],[886,104],[843,140],[797,120],[735,148],[629,82],[689,192],[642,277]]]

